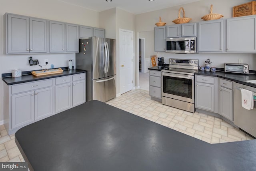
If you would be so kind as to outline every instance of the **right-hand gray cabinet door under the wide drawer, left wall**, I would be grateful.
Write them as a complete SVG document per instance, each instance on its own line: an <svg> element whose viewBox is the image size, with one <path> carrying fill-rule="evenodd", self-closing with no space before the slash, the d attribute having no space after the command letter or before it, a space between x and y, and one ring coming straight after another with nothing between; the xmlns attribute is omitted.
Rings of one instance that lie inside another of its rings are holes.
<svg viewBox="0 0 256 171"><path fill-rule="evenodd" d="M35 120L53 114L53 87L35 91Z"/></svg>

